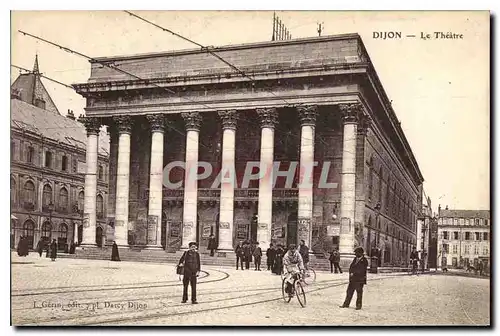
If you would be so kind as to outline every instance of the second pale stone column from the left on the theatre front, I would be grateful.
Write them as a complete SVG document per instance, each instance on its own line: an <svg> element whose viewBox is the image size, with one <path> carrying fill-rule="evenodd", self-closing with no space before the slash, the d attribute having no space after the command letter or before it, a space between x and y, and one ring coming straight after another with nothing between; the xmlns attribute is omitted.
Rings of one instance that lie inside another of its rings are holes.
<svg viewBox="0 0 500 336"><path fill-rule="evenodd" d="M128 246L128 201L130 183L130 136L132 121L128 116L115 117L118 127L118 167L116 169L115 242Z"/></svg>

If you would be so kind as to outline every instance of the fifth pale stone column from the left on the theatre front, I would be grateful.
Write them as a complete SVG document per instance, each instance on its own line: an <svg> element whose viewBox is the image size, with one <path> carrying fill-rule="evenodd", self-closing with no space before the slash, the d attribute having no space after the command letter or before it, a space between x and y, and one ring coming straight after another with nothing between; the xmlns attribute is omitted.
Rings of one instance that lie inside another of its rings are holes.
<svg viewBox="0 0 500 336"><path fill-rule="evenodd" d="M233 251L236 111L219 111L222 119L222 170L219 212L219 250Z"/></svg>

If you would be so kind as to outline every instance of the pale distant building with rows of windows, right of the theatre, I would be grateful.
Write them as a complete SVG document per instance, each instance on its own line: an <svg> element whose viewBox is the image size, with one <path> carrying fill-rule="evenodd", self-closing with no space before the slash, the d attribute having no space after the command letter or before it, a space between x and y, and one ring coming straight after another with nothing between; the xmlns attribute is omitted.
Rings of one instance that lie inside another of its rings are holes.
<svg viewBox="0 0 500 336"><path fill-rule="evenodd" d="M490 211L439 209L438 264L466 268L490 260Z"/></svg>

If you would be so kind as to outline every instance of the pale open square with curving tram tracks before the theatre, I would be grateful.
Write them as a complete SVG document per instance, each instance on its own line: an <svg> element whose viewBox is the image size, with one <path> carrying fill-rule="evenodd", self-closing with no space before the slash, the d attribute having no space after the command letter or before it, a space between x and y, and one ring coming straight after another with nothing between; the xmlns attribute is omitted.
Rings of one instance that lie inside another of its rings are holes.
<svg viewBox="0 0 500 336"><path fill-rule="evenodd" d="M268 271L202 266L199 304L181 303L173 264L11 259L11 321L35 325L433 326L490 324L489 279L369 274L363 309L341 309L348 275L317 272L307 304L285 303Z"/></svg>

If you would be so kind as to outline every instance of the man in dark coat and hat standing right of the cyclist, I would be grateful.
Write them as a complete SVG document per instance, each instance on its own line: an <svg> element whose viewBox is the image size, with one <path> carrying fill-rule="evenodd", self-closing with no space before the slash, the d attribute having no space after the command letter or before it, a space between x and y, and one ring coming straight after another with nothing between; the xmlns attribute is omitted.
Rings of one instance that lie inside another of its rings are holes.
<svg viewBox="0 0 500 336"><path fill-rule="evenodd" d="M366 285L366 268L368 267L364 252L362 247L354 250L356 257L349 267L349 286L347 286L344 304L340 308L349 308L354 291L356 291L356 310L360 310L363 306L363 286Z"/></svg>

